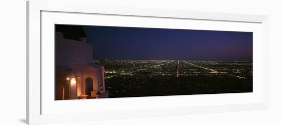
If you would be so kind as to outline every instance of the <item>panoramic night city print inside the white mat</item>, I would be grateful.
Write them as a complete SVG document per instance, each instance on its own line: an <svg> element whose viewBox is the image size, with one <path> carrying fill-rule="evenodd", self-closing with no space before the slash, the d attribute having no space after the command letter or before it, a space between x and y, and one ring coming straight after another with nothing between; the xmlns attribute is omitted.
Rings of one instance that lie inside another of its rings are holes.
<svg viewBox="0 0 281 125"><path fill-rule="evenodd" d="M253 91L253 33L55 24L55 99Z"/></svg>

